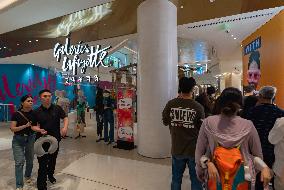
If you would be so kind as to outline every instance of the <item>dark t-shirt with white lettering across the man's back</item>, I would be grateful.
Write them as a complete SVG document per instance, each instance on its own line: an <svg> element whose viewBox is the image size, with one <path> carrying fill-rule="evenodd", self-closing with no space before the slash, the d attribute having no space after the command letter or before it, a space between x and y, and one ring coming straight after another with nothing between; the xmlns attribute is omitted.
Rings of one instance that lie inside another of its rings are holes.
<svg viewBox="0 0 284 190"><path fill-rule="evenodd" d="M170 126L172 155L194 157L196 141L205 113L192 99L170 100L163 111L163 123Z"/></svg>

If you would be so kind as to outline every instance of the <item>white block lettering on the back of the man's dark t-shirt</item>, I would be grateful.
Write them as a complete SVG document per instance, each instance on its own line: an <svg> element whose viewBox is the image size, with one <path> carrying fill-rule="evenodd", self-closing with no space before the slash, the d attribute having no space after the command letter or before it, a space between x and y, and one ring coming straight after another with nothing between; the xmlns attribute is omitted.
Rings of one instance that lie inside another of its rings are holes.
<svg viewBox="0 0 284 190"><path fill-rule="evenodd" d="M190 108L171 108L170 117L172 127L192 129L194 128L196 111Z"/></svg>

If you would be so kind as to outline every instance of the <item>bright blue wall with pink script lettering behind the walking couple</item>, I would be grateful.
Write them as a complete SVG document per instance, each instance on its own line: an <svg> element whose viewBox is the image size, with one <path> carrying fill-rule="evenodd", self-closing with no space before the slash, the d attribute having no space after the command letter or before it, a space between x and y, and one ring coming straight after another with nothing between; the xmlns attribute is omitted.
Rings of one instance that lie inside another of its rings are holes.
<svg viewBox="0 0 284 190"><path fill-rule="evenodd" d="M34 107L40 105L38 92L48 88L52 93L55 90L64 90L69 100L74 99L73 86L65 86L64 78L60 74L50 72L48 69L29 64L1 64L0 65L0 103L12 104L9 106L9 118L15 111L15 106L20 105L20 98L25 94L31 94L34 99ZM104 84L104 81L101 81ZM82 83L81 90L86 95L88 105L95 105L96 86ZM55 98L55 96L53 97ZM2 118L0 110L0 120Z"/></svg>

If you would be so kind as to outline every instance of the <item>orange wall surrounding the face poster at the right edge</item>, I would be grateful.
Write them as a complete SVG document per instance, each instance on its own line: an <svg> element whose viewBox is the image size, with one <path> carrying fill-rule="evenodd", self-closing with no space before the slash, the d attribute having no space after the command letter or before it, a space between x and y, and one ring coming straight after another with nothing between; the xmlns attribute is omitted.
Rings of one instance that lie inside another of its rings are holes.
<svg viewBox="0 0 284 190"><path fill-rule="evenodd" d="M267 23L258 28L254 33L249 35L242 42L243 47L246 47L251 42L261 37L261 47L254 50L258 51L260 64L254 64L255 72L259 80L256 90L262 86L275 86L277 88L275 104L280 108L284 108L284 11L280 11L277 15L271 18ZM248 71L250 56L243 53L243 85L249 85ZM252 70L252 66L250 66ZM258 72L259 71L259 72Z"/></svg>

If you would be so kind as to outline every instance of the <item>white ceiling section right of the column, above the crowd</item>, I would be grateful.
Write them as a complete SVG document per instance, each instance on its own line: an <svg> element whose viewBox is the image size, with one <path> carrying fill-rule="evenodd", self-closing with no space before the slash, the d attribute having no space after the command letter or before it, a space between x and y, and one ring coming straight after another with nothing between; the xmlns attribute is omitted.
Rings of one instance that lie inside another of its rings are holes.
<svg viewBox="0 0 284 190"><path fill-rule="evenodd" d="M178 26L178 36L200 40L201 44L206 42L213 45L217 51L221 72L232 72L234 67L241 69L242 47L240 45L242 41L273 18L280 10L283 10L283 7L181 25ZM224 23L219 23L222 21L228 21L224 22L226 26ZM202 49L202 47L206 48L206 46L200 45L198 47L200 53L208 54L208 49Z"/></svg>

